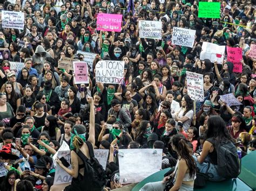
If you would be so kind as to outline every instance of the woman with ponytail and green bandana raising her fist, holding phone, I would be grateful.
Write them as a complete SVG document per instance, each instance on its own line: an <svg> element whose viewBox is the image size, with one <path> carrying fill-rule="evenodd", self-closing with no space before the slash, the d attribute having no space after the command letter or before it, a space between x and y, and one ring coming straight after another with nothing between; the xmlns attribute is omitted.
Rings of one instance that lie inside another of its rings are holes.
<svg viewBox="0 0 256 191"><path fill-rule="evenodd" d="M71 166L69 169L65 167L59 159L57 159L57 163L60 167L62 167L69 175L72 176L71 185L66 187L64 190L80 190L84 186L90 185L91 178L88 177L85 173L84 160L79 155L84 155L85 158L90 159L89 151L95 146L95 111L93 106L93 99L91 97L87 97L87 102L90 104L90 129L89 129L89 138L87 142L85 140L86 128L84 125L75 125L71 129ZM92 151L93 152L93 151ZM85 176L85 178L84 178ZM67 186L67 185L63 185ZM56 186L54 190L63 190Z"/></svg>

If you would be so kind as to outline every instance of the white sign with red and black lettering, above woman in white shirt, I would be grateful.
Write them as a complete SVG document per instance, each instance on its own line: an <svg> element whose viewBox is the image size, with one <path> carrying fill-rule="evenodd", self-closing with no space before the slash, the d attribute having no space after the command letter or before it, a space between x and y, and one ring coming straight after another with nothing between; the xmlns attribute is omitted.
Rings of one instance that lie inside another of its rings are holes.
<svg viewBox="0 0 256 191"><path fill-rule="evenodd" d="M186 71L187 94L193 100L204 101L203 74Z"/></svg>

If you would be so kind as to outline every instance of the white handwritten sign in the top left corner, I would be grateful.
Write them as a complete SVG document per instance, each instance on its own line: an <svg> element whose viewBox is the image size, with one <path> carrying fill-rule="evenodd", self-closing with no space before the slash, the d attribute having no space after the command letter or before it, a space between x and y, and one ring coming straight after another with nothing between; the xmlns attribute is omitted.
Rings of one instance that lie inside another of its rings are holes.
<svg viewBox="0 0 256 191"><path fill-rule="evenodd" d="M24 12L2 11L2 28L24 29Z"/></svg>

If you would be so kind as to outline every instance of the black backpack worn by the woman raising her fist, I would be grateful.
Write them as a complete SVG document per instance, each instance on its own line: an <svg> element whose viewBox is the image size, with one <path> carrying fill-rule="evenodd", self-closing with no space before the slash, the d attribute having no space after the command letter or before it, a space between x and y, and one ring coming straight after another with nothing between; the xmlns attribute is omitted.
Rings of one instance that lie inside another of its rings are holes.
<svg viewBox="0 0 256 191"><path fill-rule="evenodd" d="M88 159L82 151L78 151L78 156L84 162L84 185L86 188L81 188L87 191L101 191L106 183L106 171L100 165L99 161L95 158L91 142L85 142L90 153L90 159ZM78 190L76 190L78 191Z"/></svg>

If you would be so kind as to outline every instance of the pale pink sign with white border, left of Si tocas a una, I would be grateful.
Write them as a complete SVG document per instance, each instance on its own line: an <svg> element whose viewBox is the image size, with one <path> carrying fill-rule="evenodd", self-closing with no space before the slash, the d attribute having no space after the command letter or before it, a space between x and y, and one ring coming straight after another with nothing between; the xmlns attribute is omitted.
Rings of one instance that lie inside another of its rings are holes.
<svg viewBox="0 0 256 191"><path fill-rule="evenodd" d="M89 84L88 66L86 62L73 62L75 84Z"/></svg>

